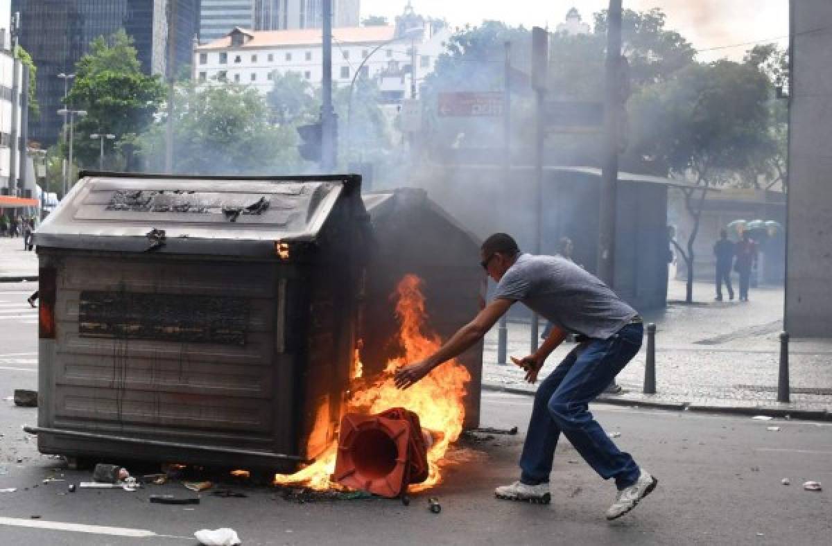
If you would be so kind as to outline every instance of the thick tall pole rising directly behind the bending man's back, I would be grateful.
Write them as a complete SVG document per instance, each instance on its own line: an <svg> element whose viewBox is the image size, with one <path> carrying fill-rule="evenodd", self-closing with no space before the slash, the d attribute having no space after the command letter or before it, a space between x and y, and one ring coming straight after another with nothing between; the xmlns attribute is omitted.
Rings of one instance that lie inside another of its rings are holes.
<svg viewBox="0 0 832 546"><path fill-rule="evenodd" d="M622 51L622 0L610 0L607 12L607 78L604 97L604 158L598 222L598 278L610 288L615 282L616 190L618 180L618 76Z"/></svg>

